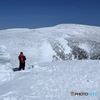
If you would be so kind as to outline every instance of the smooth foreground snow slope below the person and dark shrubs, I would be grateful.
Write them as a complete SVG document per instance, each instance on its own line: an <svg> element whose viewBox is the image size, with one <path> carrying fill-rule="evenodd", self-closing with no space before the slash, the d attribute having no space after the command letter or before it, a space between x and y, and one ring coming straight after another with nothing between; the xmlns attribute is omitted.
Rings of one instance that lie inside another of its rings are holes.
<svg viewBox="0 0 100 100"><path fill-rule="evenodd" d="M39 63L0 84L0 100L100 100L99 66L92 60ZM92 95L71 96L72 91Z"/></svg>

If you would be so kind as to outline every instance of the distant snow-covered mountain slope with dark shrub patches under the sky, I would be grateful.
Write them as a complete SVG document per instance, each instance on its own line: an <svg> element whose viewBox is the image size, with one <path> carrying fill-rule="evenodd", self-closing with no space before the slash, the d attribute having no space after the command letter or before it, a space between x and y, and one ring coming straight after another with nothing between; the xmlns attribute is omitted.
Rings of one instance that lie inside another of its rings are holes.
<svg viewBox="0 0 100 100"><path fill-rule="evenodd" d="M1 30L0 45L7 48L13 66L18 66L21 51L27 57L27 64L52 61L54 56L65 60L66 54L72 53L75 48L79 50L74 52L76 58L83 50L87 58L99 59L100 27L61 24L39 29Z"/></svg>

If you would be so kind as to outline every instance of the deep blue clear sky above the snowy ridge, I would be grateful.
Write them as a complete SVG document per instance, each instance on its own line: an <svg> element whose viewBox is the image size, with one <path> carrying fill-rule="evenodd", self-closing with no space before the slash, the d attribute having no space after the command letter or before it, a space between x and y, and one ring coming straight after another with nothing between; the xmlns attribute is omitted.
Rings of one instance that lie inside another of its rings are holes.
<svg viewBox="0 0 100 100"><path fill-rule="evenodd" d="M69 23L100 26L100 0L0 0L0 30Z"/></svg>

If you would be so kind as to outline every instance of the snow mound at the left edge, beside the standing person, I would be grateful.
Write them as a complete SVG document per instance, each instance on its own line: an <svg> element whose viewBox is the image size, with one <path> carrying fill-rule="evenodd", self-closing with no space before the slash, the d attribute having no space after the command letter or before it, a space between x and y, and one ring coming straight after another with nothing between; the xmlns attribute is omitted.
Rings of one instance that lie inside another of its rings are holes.
<svg viewBox="0 0 100 100"><path fill-rule="evenodd" d="M6 47L0 45L0 83L11 78L10 72L12 72L10 55L6 52Z"/></svg>

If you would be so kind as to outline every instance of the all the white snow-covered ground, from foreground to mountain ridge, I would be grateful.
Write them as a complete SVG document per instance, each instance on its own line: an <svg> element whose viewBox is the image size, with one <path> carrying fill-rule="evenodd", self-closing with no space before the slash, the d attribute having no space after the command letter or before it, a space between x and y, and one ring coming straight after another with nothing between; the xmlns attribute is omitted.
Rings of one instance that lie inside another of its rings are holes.
<svg viewBox="0 0 100 100"><path fill-rule="evenodd" d="M63 61L74 46L99 54L100 27L62 24L40 29L0 31L0 100L100 100L99 61ZM18 55L26 56L26 70L13 73ZM59 62L52 62L53 56ZM34 65L34 69L28 69ZM70 92L97 92L75 96Z"/></svg>

